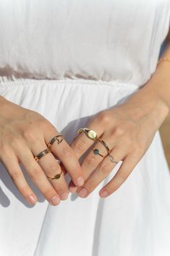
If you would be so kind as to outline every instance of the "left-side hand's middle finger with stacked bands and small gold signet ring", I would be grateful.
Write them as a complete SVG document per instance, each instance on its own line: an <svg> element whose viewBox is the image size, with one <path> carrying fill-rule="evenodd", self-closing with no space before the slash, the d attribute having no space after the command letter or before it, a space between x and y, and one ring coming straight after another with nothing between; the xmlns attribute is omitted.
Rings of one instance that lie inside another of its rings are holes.
<svg viewBox="0 0 170 256"><path fill-rule="evenodd" d="M47 148L45 142L35 142L34 147L31 147L33 155L37 155ZM66 200L68 197L68 186L64 179L63 173L61 173L61 167L55 160L52 153L48 153L39 159L37 162L45 172L46 176L53 178L56 174L61 174L59 179L49 179L58 195L62 200Z"/></svg>

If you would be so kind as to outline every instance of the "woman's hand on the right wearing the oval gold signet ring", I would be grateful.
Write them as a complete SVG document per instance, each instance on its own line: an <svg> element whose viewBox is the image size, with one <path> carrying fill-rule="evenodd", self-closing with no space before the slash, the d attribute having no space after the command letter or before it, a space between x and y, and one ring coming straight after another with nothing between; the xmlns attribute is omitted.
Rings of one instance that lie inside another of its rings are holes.
<svg viewBox="0 0 170 256"><path fill-rule="evenodd" d="M100 112L87 125L108 145L114 160L122 161L112 180L100 190L101 197L111 195L125 182L146 153L156 130L168 114L166 104L156 97L148 101L147 97L147 95L146 99L141 97L138 92L126 103ZM97 142L96 145L93 143L93 140L81 132L71 143L71 148L77 158L80 158L91 145L99 150L100 154L107 155L107 150L101 142ZM109 156L102 158L101 155L95 155L93 150L89 151L81 163L85 183L77 190L80 197L87 197L109 175L116 166L111 160ZM72 182L69 184L69 189L71 192L76 192Z"/></svg>

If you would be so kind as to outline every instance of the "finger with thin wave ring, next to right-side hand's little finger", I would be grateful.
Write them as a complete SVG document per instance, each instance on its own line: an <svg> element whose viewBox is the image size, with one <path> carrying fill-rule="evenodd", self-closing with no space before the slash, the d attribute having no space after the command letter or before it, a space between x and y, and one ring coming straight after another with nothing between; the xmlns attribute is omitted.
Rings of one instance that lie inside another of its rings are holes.
<svg viewBox="0 0 170 256"><path fill-rule="evenodd" d="M125 157L121 150L116 148L111 151L110 155L113 156L114 161L117 163ZM86 180L84 186L77 190L79 196L87 197L115 168L117 165L115 162L107 155L97 166L97 169L89 176L89 179Z"/></svg>

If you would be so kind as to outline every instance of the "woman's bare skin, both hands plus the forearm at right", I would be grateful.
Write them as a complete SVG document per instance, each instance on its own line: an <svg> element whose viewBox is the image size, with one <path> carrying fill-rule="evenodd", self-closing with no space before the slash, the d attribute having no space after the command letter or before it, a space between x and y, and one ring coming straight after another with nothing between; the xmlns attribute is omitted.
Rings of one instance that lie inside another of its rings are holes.
<svg viewBox="0 0 170 256"><path fill-rule="evenodd" d="M163 57L170 59L170 46ZM115 161L122 161L117 174L99 191L99 196L111 195L128 179L169 114L169 69L170 62L162 61L151 80L128 98L128 101L99 112L87 124L107 143ZM53 153L48 153L37 163L34 155L47 148L48 141L58 135L57 129L37 112L22 108L1 96L0 106L0 161L21 195L30 204L35 205L37 197L24 179L20 163L51 205L58 205L68 197L68 186L64 179L67 172L71 176L69 190L77 191L80 197L87 197L115 167L116 163L109 161L108 156L103 159L94 155L92 150L80 166L79 158L93 144L84 133L76 137L71 145L63 140L58 147L57 142L54 142ZM100 142L97 142L95 148L106 155ZM55 161L55 156L61 159L61 165ZM61 168L63 174L60 179L47 179L46 175L61 173Z"/></svg>

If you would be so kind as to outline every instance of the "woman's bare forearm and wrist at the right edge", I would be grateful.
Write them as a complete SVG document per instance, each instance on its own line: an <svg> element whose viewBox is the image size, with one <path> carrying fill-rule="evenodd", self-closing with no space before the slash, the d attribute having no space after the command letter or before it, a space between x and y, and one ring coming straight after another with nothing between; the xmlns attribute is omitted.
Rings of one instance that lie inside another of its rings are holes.
<svg viewBox="0 0 170 256"><path fill-rule="evenodd" d="M162 57L170 59L170 46ZM170 110L170 62L161 61L151 79L128 99L127 105L134 119L151 114L153 125L158 129Z"/></svg>

